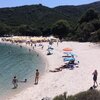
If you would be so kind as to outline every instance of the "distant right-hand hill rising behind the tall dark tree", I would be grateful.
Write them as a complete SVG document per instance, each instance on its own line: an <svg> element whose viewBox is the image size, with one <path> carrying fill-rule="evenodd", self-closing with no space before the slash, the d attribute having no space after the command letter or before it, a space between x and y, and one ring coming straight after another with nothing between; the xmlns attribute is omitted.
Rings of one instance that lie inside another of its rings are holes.
<svg viewBox="0 0 100 100"><path fill-rule="evenodd" d="M100 14L100 1L79 6L58 6L54 10L69 18L70 21L77 23L80 17L90 8L93 8Z"/></svg>

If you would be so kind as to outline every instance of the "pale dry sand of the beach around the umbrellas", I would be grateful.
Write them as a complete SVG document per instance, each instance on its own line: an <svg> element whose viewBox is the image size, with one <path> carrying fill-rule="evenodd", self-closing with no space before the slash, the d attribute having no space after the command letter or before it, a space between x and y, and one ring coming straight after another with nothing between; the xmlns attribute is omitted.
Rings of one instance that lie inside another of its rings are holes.
<svg viewBox="0 0 100 100"><path fill-rule="evenodd" d="M43 97L53 98L56 95L67 92L73 95L81 91L88 90L93 85L93 71L98 71L98 83L100 82L100 44L62 42L53 44L53 54L47 55L48 43L43 43L43 50L36 47L47 62L47 68L43 76L40 76L39 84L23 90L19 94L7 98L7 100L41 100ZM49 72L64 65L63 48L69 47L77 55L79 67L73 70L63 69L60 72ZM100 86L99 86L100 87ZM99 89L98 87L98 89Z"/></svg>

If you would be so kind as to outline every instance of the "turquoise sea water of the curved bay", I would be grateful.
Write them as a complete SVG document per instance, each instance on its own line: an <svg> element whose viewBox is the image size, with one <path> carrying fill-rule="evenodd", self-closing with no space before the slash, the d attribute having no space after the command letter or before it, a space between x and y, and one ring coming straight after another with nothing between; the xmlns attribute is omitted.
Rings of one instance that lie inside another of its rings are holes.
<svg viewBox="0 0 100 100"><path fill-rule="evenodd" d="M0 98L18 93L34 84L35 70L42 73L45 62L35 51L19 46L0 44ZM19 83L18 89L12 89L13 76L18 80L27 79L26 83Z"/></svg>

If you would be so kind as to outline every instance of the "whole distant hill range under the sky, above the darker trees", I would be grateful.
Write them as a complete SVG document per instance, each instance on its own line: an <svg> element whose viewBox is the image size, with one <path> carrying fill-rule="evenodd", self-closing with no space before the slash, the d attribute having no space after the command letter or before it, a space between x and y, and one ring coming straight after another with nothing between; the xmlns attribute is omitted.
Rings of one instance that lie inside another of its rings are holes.
<svg viewBox="0 0 100 100"><path fill-rule="evenodd" d="M47 26L60 19L66 19L71 23L77 22L80 16L94 8L100 13L100 2L94 2L80 6L45 7L41 4L0 9L0 22L11 26L21 24L33 24L34 26Z"/></svg>

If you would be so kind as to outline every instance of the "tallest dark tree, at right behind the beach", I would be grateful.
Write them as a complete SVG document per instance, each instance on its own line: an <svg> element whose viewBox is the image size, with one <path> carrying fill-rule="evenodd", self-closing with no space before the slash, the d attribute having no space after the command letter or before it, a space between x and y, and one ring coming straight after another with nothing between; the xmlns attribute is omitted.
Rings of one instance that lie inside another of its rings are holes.
<svg viewBox="0 0 100 100"><path fill-rule="evenodd" d="M91 33L97 31L99 28L100 28L100 21L98 13L93 9L89 9L82 16L77 25L76 28L77 40L86 42L93 39L93 37L91 38Z"/></svg>

